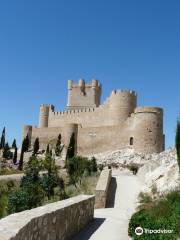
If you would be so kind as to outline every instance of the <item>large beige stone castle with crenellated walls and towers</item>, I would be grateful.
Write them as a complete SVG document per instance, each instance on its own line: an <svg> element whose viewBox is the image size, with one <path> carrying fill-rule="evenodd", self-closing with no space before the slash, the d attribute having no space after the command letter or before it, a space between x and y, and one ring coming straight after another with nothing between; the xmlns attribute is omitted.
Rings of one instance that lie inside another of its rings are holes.
<svg viewBox="0 0 180 240"><path fill-rule="evenodd" d="M28 135L32 145L38 137L46 149L61 134L67 149L74 133L78 155L126 147L143 153L164 150L163 109L137 107L137 94L125 90L112 91L101 105L101 93L97 80L90 84L69 80L67 109L56 112L53 105L41 105L39 126L25 125L23 138Z"/></svg>

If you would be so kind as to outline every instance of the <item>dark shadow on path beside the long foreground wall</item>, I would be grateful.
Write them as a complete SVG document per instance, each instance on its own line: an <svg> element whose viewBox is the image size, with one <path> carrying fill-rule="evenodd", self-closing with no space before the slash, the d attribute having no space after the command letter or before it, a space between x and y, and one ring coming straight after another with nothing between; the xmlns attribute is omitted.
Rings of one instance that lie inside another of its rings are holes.
<svg viewBox="0 0 180 240"><path fill-rule="evenodd" d="M105 218L94 218L92 222L88 224L87 227L82 229L74 238L73 240L87 240L90 239L90 237L93 235L94 232L103 224L105 221Z"/></svg>

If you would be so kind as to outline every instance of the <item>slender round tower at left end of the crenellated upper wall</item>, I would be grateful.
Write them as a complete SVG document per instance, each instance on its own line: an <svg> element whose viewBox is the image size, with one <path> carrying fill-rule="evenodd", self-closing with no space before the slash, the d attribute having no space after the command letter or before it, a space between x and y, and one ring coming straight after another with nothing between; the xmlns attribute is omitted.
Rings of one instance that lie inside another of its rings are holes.
<svg viewBox="0 0 180 240"><path fill-rule="evenodd" d="M48 127L49 112L54 110L53 105L42 104L39 114L39 128Z"/></svg>

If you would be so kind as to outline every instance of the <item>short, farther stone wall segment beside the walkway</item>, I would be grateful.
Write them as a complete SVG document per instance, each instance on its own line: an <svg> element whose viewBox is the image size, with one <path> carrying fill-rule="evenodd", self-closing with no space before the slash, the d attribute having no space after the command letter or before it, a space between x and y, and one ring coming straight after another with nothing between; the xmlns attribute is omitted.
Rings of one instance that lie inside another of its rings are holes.
<svg viewBox="0 0 180 240"><path fill-rule="evenodd" d="M96 190L95 190L95 208L105 208L109 184L111 181L111 169L105 169L101 172Z"/></svg>

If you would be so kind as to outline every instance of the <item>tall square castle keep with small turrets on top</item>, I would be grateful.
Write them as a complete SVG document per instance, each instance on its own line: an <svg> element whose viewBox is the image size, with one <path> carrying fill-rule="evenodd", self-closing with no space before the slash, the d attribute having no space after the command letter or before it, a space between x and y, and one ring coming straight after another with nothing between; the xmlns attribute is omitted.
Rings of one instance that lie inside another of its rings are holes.
<svg viewBox="0 0 180 240"><path fill-rule="evenodd" d="M90 84L86 84L83 79L80 79L78 84L68 81L67 109L99 107L100 100L101 84L97 80L92 80Z"/></svg>

